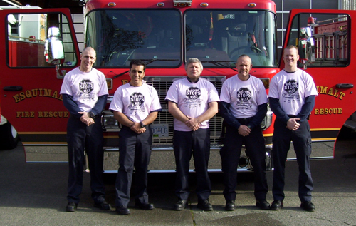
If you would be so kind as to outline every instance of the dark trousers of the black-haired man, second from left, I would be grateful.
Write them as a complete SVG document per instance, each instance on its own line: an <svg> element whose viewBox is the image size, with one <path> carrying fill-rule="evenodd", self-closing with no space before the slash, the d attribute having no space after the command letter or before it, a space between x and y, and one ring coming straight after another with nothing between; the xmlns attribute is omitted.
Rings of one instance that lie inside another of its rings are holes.
<svg viewBox="0 0 356 226"><path fill-rule="evenodd" d="M137 134L123 126L119 132L119 170L116 177L116 207L127 207L130 202L132 173L135 167L135 201L148 203L147 170L152 148L152 130L148 125L146 132Z"/></svg>

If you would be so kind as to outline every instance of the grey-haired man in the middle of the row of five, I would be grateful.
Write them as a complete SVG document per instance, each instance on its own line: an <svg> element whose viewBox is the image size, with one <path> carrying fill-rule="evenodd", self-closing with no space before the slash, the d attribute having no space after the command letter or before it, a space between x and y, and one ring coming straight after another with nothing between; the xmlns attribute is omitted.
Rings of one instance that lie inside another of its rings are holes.
<svg viewBox="0 0 356 226"><path fill-rule="evenodd" d="M189 161L194 157L197 173L197 207L213 210L209 202L211 184L208 175L210 155L209 119L218 112L219 94L214 85L200 78L203 65L197 58L189 58L187 77L172 83L166 96L168 111L174 117L173 148L176 160L176 196L174 210L184 210L189 197Z"/></svg>

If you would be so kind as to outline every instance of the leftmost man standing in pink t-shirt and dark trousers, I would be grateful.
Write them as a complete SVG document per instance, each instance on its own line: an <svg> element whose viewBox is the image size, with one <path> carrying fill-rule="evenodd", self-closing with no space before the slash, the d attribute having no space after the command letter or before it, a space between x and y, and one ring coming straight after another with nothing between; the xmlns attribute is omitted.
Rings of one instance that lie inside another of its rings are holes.
<svg viewBox="0 0 356 226"><path fill-rule="evenodd" d="M66 74L61 88L64 106L70 112L67 124L69 175L66 210L77 210L83 188L84 148L88 156L94 206L110 210L110 205L105 201L103 130L100 120L108 97L108 86L104 74L93 68L96 60L93 48L84 48L80 60L80 67Z"/></svg>

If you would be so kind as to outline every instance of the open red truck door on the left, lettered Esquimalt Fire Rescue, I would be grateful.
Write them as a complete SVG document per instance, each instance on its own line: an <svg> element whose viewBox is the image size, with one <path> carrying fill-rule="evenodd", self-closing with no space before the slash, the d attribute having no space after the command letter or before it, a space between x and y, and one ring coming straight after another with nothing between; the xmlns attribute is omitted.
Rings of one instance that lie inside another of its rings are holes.
<svg viewBox="0 0 356 226"><path fill-rule="evenodd" d="M0 18L4 21L0 24L1 115L18 131L27 162L67 161L69 113L63 106L60 90L63 75L79 63L70 11L1 10ZM48 58L46 61L45 55L48 31L52 28L58 29L58 39L63 42L64 59L58 60L57 66ZM58 76L56 67L61 67L62 76ZM53 146L63 150L48 155ZM46 157L40 157L41 153Z"/></svg>

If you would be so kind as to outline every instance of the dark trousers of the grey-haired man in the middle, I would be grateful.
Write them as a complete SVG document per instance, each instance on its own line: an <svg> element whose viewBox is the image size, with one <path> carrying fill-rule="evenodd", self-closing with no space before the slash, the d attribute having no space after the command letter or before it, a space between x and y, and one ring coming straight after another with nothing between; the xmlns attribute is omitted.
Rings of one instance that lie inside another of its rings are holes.
<svg viewBox="0 0 356 226"><path fill-rule="evenodd" d="M208 175L210 130L198 129L188 132L174 130L173 146L177 171L175 194L181 200L187 200L189 197L189 162L193 155L198 200L208 199L211 193Z"/></svg>

